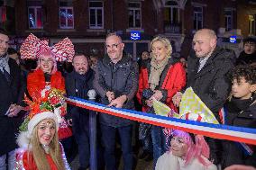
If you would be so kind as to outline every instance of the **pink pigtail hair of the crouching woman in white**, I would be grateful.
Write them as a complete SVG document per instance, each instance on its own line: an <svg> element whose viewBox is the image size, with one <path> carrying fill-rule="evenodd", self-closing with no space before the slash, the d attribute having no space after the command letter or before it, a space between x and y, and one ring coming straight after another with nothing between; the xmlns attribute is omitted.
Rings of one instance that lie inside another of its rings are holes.
<svg viewBox="0 0 256 170"><path fill-rule="evenodd" d="M182 130L173 130L173 137L180 137L184 139L185 143L188 146L187 153L185 156L185 165L187 166L190 161L194 158L197 158L198 161L204 166L210 166L211 162L206 162L203 157L209 158L210 149L202 135L195 136L195 142L189 133Z"/></svg>

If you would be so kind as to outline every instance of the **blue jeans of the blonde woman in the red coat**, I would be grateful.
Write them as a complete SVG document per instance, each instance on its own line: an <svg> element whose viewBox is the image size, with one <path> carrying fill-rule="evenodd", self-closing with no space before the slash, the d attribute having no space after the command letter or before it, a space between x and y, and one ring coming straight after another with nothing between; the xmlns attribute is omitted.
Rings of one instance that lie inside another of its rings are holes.
<svg viewBox="0 0 256 170"><path fill-rule="evenodd" d="M153 143L153 167L155 168L158 158L168 150L168 146L162 128L159 126L152 126L151 138Z"/></svg>

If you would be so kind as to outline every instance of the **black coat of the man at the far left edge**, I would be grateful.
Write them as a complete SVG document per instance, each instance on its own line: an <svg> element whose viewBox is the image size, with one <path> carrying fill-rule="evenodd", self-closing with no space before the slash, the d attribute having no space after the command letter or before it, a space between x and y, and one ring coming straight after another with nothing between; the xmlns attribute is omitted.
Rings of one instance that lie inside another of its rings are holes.
<svg viewBox="0 0 256 170"><path fill-rule="evenodd" d="M5 116L12 103L23 105L25 84L20 67L15 60L9 58L11 83L6 82L5 76L0 72L0 157L17 148L16 134L18 133L18 119Z"/></svg>

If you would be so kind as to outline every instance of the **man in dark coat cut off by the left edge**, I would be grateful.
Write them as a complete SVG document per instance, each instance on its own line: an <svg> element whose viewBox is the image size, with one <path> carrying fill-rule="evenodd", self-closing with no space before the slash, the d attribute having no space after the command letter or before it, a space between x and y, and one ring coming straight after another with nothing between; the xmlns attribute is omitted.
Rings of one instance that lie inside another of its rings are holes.
<svg viewBox="0 0 256 170"><path fill-rule="evenodd" d="M13 58L9 58L9 37L6 31L0 30L0 169L14 169L17 128L21 122L17 117L23 110L23 76L21 69Z"/></svg>

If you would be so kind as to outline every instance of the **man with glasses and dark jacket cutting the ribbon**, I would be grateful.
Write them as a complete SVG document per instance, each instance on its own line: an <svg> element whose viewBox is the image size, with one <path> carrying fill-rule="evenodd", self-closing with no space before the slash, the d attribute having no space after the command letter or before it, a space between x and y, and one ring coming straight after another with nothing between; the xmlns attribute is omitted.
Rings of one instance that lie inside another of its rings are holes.
<svg viewBox="0 0 256 170"><path fill-rule="evenodd" d="M134 109L133 97L138 88L138 65L123 53L122 39L111 33L106 37L107 55L98 60L94 86L101 103L116 108ZM133 167L132 121L105 113L99 115L105 147L106 170L115 170L115 133L118 131L123 151L123 169Z"/></svg>

